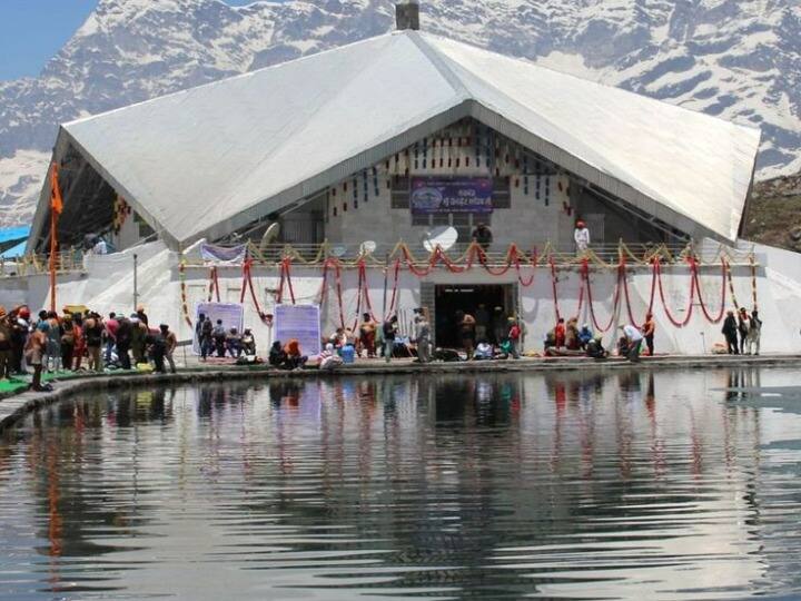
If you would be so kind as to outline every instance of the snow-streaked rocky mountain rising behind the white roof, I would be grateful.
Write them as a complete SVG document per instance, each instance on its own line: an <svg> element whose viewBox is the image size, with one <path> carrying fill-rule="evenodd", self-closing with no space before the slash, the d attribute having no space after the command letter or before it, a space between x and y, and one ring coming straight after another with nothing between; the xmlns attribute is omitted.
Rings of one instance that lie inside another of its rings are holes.
<svg viewBox="0 0 801 601"><path fill-rule="evenodd" d="M30 218L57 124L393 27L390 0L100 0L40 77L0 82L0 225ZM422 0L422 27L759 125L760 175L801 168L799 0Z"/></svg>

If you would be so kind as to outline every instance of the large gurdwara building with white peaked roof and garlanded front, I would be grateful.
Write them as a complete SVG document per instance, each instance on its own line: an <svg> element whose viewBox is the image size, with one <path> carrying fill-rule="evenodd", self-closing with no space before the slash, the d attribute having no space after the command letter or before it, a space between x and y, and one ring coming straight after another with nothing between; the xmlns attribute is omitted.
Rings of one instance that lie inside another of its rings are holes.
<svg viewBox="0 0 801 601"><path fill-rule="evenodd" d="M801 274L738 239L759 129L421 32L415 3L397 14L387 35L65 124L59 248L102 235L117 252L65 269L59 304L127 309L137 255L157 319L189 337L198 303L241 303L260 349L286 303L318 305L323 332L364 312L408 327L425 306L442 345L456 311L501 307L526 349L558 317L613 336L652 311L679 353L759 304L765 351L795 346L771 332L798 332ZM31 255L50 206L46 185ZM6 302L46 304L34 279Z"/></svg>

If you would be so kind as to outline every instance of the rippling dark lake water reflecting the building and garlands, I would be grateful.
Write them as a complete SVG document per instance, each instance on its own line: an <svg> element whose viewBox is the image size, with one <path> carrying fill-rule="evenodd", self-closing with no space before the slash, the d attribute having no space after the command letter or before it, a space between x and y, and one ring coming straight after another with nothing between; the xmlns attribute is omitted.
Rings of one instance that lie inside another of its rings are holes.
<svg viewBox="0 0 801 601"><path fill-rule="evenodd" d="M793 377L284 378L61 403L0 443L0 597L790 593L801 417L750 400Z"/></svg>

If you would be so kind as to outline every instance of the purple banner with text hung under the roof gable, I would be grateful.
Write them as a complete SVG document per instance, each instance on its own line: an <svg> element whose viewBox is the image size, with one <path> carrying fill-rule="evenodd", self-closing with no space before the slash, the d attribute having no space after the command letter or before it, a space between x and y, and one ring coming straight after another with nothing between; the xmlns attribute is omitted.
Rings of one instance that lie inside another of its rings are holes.
<svg viewBox="0 0 801 601"><path fill-rule="evenodd" d="M412 213L492 213L492 184L490 177L414 177Z"/></svg>

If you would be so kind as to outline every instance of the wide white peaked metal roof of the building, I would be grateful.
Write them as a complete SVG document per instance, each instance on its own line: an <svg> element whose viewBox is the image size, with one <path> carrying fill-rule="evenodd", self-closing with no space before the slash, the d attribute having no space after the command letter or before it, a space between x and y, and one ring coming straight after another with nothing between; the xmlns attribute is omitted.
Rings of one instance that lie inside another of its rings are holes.
<svg viewBox="0 0 801 601"><path fill-rule="evenodd" d="M177 246L467 116L690 235L736 238L758 129L411 30L67 124L56 154L76 147Z"/></svg>

